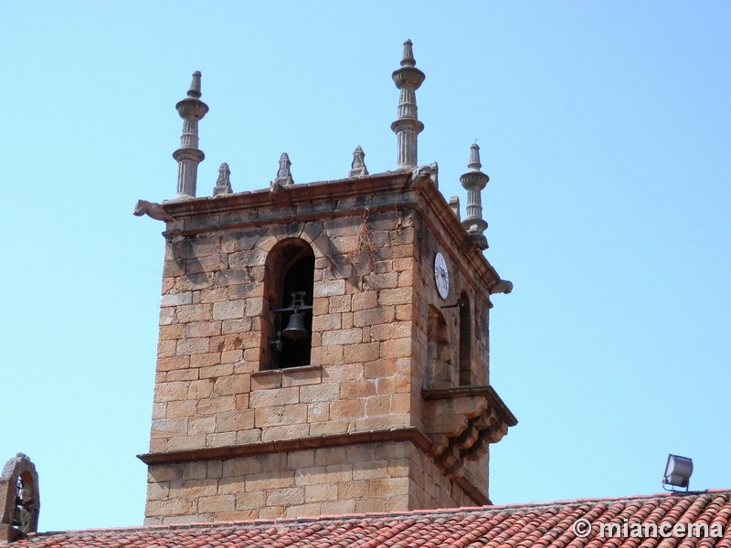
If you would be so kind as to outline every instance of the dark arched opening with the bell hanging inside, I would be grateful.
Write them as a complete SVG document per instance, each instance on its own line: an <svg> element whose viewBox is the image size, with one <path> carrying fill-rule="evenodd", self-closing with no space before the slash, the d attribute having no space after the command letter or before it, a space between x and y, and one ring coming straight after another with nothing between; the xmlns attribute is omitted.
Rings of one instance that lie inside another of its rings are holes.
<svg viewBox="0 0 731 548"><path fill-rule="evenodd" d="M267 257L265 297L269 322L261 369L310 364L313 346L314 253L300 238L287 238ZM266 320L266 319L265 319Z"/></svg>

